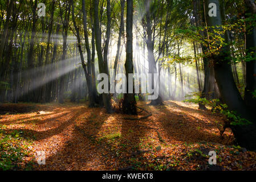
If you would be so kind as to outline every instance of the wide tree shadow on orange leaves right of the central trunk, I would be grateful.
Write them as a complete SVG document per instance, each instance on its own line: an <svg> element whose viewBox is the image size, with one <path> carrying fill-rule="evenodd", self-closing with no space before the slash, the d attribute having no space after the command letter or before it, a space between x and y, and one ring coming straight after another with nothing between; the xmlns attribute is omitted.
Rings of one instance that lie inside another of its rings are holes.
<svg viewBox="0 0 256 182"><path fill-rule="evenodd" d="M180 111L170 111L166 106L161 107L161 112L157 117L161 123L161 128L168 135L170 140L181 142L213 142L227 144L229 137L221 139L218 123L222 121L220 115L213 115L209 110L197 110L177 105L174 102L170 106L175 106ZM196 115L196 116L195 116ZM171 116L171 117L170 117ZM230 142L232 142L230 140Z"/></svg>

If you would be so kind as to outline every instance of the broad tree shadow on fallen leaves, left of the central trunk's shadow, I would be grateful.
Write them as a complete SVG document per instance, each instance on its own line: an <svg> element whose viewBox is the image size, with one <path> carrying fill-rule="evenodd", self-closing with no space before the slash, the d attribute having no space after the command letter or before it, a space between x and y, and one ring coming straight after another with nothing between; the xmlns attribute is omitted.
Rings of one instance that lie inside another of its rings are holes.
<svg viewBox="0 0 256 182"><path fill-rule="evenodd" d="M62 149L46 159L54 165L46 164L39 166L38 169L88 170L88 166L104 166L101 156L104 155L103 151L106 146L99 142L99 132L109 114L105 114L104 111L95 113L94 110L94 108L88 108L76 117L82 122L74 122L71 137L64 142ZM87 113L91 114L88 116ZM60 162L63 165L59 165Z"/></svg>

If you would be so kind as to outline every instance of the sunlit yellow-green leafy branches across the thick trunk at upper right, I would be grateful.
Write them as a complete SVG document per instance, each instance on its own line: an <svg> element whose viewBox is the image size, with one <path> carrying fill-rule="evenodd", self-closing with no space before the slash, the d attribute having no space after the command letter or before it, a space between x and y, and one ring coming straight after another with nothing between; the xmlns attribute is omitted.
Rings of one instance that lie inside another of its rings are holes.
<svg viewBox="0 0 256 182"><path fill-rule="evenodd" d="M249 16L249 18L230 18L221 26L196 27L188 25L186 28L177 28L175 33L179 36L184 36L190 42L197 42L208 48L206 52L199 53L197 55L198 57L203 58L219 55L221 52L225 52L225 49L222 48L228 46L233 55L225 57L225 61L229 61L229 63L254 61L256 49L250 49L250 51L247 51L246 55L244 55L241 49L243 49L245 42L237 38L241 36L246 29L256 26L256 15L247 14L247 16ZM230 32L232 37L229 42L226 42L224 39L224 35L227 31ZM201 32L207 32L208 36L202 36Z"/></svg>

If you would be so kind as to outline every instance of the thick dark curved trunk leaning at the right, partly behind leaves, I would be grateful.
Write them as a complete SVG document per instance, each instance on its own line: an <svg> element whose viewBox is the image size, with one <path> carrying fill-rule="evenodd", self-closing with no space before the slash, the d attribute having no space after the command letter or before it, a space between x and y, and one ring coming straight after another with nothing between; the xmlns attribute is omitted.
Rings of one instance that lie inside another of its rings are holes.
<svg viewBox="0 0 256 182"><path fill-rule="evenodd" d="M215 3L217 5L217 16L208 16L209 3ZM209 31L212 29L210 27L221 26L221 17L223 16L221 16L220 2L218 0L208 0L206 1L205 7L206 21L209 26ZM227 34L225 34L225 36L222 38L224 38L226 42L228 41ZM231 66L226 60L226 57L229 57L229 52L229 47L224 46L220 50L220 54L213 54L216 81L218 88L220 89L222 100L225 104L227 104L227 106L229 106L229 110L237 111L237 113L240 114L242 118L249 119L251 122L253 122L253 124L245 126L231 125L231 129L235 135L235 138L237 139L238 144L242 147L248 148L249 150L256 150L255 118L247 109L240 93L238 92L237 86L235 85Z"/></svg>

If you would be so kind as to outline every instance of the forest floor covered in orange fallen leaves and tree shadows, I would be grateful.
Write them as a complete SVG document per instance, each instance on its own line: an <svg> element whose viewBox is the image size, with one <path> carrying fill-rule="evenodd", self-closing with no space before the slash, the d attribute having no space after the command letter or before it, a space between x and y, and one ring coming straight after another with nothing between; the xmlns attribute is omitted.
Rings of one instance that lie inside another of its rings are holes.
<svg viewBox="0 0 256 182"><path fill-rule="evenodd" d="M164 104L138 102L152 116L137 121L85 104L0 105L0 147L6 150L0 167L8 169L6 162L33 170L256 169L256 152L234 146L230 129L220 137L221 115L184 102ZM22 156L18 165L7 159L10 151ZM45 152L45 165L36 162L36 151ZM209 151L217 152L217 165L208 163Z"/></svg>

